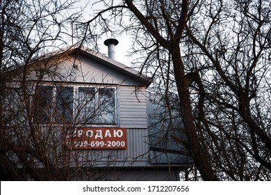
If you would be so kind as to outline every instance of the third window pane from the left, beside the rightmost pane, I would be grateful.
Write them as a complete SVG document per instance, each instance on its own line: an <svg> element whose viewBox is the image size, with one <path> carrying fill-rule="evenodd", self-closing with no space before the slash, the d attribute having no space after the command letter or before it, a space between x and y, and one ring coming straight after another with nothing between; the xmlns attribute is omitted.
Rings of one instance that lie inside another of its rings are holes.
<svg viewBox="0 0 271 195"><path fill-rule="evenodd" d="M80 123L95 121L95 88L79 87L77 111Z"/></svg>

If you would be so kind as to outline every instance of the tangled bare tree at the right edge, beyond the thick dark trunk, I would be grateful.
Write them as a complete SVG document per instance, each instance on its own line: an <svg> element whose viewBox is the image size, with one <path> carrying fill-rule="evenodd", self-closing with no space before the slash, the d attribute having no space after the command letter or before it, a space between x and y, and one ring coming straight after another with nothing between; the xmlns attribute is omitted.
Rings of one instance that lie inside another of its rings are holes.
<svg viewBox="0 0 271 195"><path fill-rule="evenodd" d="M210 1L186 26L196 124L222 179L270 180L269 6Z"/></svg>

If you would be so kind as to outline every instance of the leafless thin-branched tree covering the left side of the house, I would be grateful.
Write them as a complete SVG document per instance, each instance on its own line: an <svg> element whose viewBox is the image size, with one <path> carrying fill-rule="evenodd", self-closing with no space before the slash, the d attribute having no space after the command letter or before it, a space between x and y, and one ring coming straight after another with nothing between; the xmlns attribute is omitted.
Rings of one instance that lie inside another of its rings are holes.
<svg viewBox="0 0 271 195"><path fill-rule="evenodd" d="M72 110L79 108L71 103L72 88L48 84L69 79L59 71L69 56L55 51L69 45L67 26L78 18L69 14L72 6L70 1L0 1L1 180L79 180L75 174L101 158L79 164L82 153L67 148L65 137L80 124ZM85 174L92 177L90 170Z"/></svg>

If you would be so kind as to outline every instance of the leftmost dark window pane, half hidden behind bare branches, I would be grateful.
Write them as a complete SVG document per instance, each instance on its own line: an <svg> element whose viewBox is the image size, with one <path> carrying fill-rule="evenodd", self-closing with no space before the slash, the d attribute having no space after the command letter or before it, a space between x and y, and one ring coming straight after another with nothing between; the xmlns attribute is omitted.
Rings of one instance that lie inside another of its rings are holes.
<svg viewBox="0 0 271 195"><path fill-rule="evenodd" d="M51 118L51 102L53 100L53 87L40 86L34 95L35 110L33 119L38 123L47 123Z"/></svg>

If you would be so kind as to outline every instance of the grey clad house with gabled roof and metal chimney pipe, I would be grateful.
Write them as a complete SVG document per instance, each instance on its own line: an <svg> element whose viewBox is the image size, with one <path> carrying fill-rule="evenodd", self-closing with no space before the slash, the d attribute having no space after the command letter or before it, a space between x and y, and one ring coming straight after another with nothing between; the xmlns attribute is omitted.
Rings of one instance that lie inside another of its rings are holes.
<svg viewBox="0 0 271 195"><path fill-rule="evenodd" d="M188 150L175 139L186 137L181 122L174 120L176 130L159 123L163 100L147 91L151 79L115 61L117 40L105 44L109 58L72 47L13 74L13 88L21 90L19 83L27 80L32 103L24 110L31 117L29 128L43 140L37 143L48 133L48 159L44 163L37 155L37 167L44 169L48 161L59 170L68 167L72 180L178 180L192 165Z"/></svg>

